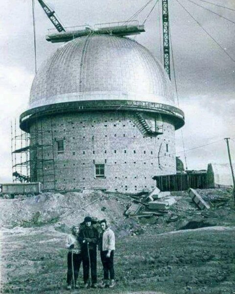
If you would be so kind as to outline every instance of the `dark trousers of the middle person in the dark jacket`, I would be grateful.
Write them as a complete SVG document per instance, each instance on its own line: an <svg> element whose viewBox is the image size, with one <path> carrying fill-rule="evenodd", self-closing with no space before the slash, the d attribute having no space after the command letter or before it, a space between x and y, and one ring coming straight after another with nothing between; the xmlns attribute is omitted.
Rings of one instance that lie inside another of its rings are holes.
<svg viewBox="0 0 235 294"><path fill-rule="evenodd" d="M91 278L92 284L97 283L97 252L95 249L89 249L90 262L91 262ZM83 280L84 283L88 283L89 280L89 271L90 271L90 262L88 250L84 250L82 253L82 262L83 262Z"/></svg>

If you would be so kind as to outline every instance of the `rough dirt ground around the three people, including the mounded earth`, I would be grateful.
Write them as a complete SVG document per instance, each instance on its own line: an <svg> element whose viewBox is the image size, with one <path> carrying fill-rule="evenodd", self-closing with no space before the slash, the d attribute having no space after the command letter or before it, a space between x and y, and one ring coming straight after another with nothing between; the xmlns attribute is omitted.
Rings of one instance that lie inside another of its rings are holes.
<svg viewBox="0 0 235 294"><path fill-rule="evenodd" d="M133 199L119 193L0 199L1 293L68 293L65 238L71 225L86 215L106 218L116 233L117 286L73 293L235 293L232 193L198 192L211 205L207 212L198 210L187 192L175 192L177 202L168 212L148 218L127 218L124 212ZM170 215L178 219L169 222ZM99 258L97 271L101 280ZM82 287L82 270L79 284Z"/></svg>

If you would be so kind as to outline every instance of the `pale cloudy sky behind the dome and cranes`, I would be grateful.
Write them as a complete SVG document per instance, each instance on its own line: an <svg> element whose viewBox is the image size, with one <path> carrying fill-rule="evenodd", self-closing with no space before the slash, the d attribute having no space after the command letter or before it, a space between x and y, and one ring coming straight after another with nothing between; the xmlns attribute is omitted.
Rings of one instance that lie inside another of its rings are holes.
<svg viewBox="0 0 235 294"><path fill-rule="evenodd" d="M169 21L179 107L185 126L176 131L177 156L188 169L208 163L228 163L225 137L230 137L235 161L235 1L169 0ZM147 0L49 0L64 26L118 22L129 19ZM162 1L160 0L160 3ZM204 6L211 11L194 4ZM231 9L212 5L226 6ZM136 18L146 19L155 0ZM159 3L147 18L146 32L135 40L163 60ZM226 18L226 19L225 19ZM195 21L196 20L196 21ZM53 28L35 0L37 66L60 44L45 40ZM209 36L211 35L211 37ZM219 44L219 46L215 43ZM228 56L225 52L230 56ZM172 81L173 66L171 63ZM0 182L11 182L11 121L18 125L27 108L35 74L32 1L2 0L0 10ZM176 105L177 99L176 99ZM186 152L184 153L184 146Z"/></svg>

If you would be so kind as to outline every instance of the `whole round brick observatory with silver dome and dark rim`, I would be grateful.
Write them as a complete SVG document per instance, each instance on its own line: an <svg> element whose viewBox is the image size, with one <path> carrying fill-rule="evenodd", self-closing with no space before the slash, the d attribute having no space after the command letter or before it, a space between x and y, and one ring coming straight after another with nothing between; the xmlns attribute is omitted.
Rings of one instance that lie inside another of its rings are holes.
<svg viewBox="0 0 235 294"><path fill-rule="evenodd" d="M184 113L163 67L136 41L76 38L36 74L28 110L30 177L44 190L153 189L176 172L175 130Z"/></svg>

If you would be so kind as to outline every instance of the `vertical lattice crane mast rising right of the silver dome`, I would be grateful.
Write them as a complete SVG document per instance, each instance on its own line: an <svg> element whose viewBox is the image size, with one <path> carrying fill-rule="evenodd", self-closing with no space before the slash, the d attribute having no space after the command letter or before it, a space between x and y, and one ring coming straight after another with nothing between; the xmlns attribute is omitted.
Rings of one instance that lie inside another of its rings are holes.
<svg viewBox="0 0 235 294"><path fill-rule="evenodd" d="M163 7L163 53L164 69L170 78L170 42L169 42L169 13L168 0L162 0Z"/></svg>

